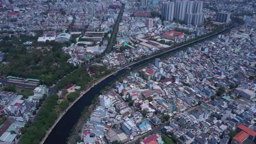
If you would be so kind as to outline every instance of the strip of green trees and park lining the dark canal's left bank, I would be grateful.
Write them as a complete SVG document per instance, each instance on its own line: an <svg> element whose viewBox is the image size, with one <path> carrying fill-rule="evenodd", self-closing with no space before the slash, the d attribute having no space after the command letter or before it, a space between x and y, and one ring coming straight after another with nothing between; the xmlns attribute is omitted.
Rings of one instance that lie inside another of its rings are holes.
<svg viewBox="0 0 256 144"><path fill-rule="evenodd" d="M88 70L95 73L90 72L90 76ZM104 71L104 73L102 73L102 71ZM66 85L72 83L81 86L81 89L86 89L91 85L93 80L97 80L111 72L112 70L101 66L91 66L88 69L86 67L80 67L63 78L63 80L58 83L57 88L61 90L64 89ZM52 95L42 107L42 111L39 112L39 116L36 118L36 121L33 124L28 122L28 124L22 128L21 131L24 136L21 138L21 144L39 143L45 136L46 130L54 124L58 116L57 111L66 110L69 103L72 103L72 101L79 97L80 92L81 90L77 90L73 93L69 93L67 97L60 102L60 104L57 103L59 96L56 94Z"/></svg>

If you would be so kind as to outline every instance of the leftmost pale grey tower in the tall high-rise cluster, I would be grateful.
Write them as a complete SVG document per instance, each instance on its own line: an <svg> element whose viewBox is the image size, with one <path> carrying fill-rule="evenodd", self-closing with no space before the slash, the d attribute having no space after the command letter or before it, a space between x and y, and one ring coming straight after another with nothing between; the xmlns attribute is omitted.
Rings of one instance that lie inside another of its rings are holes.
<svg viewBox="0 0 256 144"><path fill-rule="evenodd" d="M162 4L162 18L166 21L173 21L174 3L167 2Z"/></svg>

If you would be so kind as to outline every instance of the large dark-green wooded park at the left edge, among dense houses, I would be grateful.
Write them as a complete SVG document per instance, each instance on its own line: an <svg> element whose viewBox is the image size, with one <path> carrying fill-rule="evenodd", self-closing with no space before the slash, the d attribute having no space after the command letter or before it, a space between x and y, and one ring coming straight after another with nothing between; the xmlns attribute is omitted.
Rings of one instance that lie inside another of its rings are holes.
<svg viewBox="0 0 256 144"><path fill-rule="evenodd" d="M36 37L21 35L20 38L4 37L0 51L8 53L0 64L0 75L39 79L45 85L52 85L76 67L67 63L69 55L61 51L62 44L55 41L37 43ZM31 46L23 43L33 41ZM31 49L27 49L31 47Z"/></svg>

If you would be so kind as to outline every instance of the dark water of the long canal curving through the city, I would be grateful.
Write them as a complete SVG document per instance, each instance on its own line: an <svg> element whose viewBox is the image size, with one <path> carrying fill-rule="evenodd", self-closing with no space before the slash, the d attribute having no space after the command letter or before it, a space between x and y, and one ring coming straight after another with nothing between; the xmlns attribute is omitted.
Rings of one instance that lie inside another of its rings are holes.
<svg viewBox="0 0 256 144"><path fill-rule="evenodd" d="M231 28L234 28L237 26L239 26L238 23L235 23L235 25L232 26ZM217 34L219 34L219 33L217 33ZM214 34L212 37L209 37L207 39L212 39L213 37L216 37L217 34ZM206 39L203 39L203 40L206 40ZM195 43L200 43L200 41L202 41L202 40L195 41L194 43L191 43L191 45L193 45ZM69 133L71 132L73 126L78 122L78 119L81 116L81 112L84 110L84 107L90 106L91 100L94 99L95 95L101 94L100 93L101 89L103 89L105 86L107 86L109 82L117 80L121 74L124 74L131 70L135 70L138 67L140 67L140 65L148 63L150 61L153 61L154 58L156 58L156 57L162 57L162 56L166 56L166 55L171 56L171 54L173 52L184 50L184 49L185 49L185 47L180 47L179 49L171 50L171 51L168 51L165 53L161 53L160 55L153 56L149 59L142 60L138 63L131 65L129 67L129 69L122 69L122 70L118 71L116 74L107 77L107 79L104 79L103 81L98 83L96 86L92 87L60 119L59 123L57 123L57 125L55 126L53 131L51 131L50 135L47 137L47 139L45 140L44 143L45 144L66 143L67 137L69 136Z"/></svg>

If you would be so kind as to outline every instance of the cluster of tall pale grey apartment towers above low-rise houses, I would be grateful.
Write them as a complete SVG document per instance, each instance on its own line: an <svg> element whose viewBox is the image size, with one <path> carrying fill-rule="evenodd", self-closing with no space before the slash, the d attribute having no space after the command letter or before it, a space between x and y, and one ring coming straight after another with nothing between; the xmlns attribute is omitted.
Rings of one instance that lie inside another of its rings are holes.
<svg viewBox="0 0 256 144"><path fill-rule="evenodd" d="M162 4L162 18L167 21L185 21L199 25L204 20L202 1L175 1Z"/></svg>

